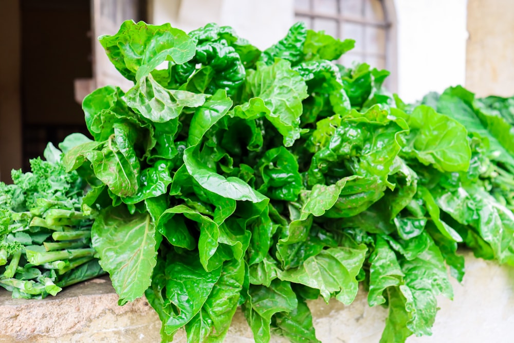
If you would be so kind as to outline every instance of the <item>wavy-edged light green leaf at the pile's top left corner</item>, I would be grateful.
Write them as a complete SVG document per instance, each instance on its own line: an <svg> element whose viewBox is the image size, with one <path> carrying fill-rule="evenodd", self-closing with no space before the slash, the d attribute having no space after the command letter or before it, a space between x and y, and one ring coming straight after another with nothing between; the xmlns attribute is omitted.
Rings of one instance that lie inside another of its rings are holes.
<svg viewBox="0 0 514 343"><path fill-rule="evenodd" d="M191 60L195 45L188 35L170 24L149 25L127 20L115 35L99 38L109 60L128 80L137 81L164 61Z"/></svg>

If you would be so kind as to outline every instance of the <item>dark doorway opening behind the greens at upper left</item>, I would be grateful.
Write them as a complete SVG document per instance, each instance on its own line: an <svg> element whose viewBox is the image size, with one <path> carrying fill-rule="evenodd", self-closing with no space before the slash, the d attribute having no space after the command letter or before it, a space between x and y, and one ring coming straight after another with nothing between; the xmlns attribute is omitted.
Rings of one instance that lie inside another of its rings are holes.
<svg viewBox="0 0 514 343"><path fill-rule="evenodd" d="M87 134L74 81L92 78L89 0L22 0L23 169L72 132Z"/></svg>

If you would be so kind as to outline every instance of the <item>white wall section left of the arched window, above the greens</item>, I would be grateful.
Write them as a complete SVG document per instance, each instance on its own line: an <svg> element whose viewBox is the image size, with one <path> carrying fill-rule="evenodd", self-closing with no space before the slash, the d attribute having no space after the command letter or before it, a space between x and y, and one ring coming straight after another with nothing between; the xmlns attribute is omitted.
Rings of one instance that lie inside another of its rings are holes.
<svg viewBox="0 0 514 343"><path fill-rule="evenodd" d="M152 0L150 21L189 32L215 22L265 49L284 37L294 22L293 0Z"/></svg>

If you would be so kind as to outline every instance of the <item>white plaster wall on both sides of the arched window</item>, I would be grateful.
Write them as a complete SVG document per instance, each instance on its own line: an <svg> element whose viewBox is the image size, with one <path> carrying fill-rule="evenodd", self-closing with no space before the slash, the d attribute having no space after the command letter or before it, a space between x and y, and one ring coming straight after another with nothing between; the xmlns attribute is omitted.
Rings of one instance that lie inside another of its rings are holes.
<svg viewBox="0 0 514 343"><path fill-rule="evenodd" d="M397 93L407 102L464 84L467 0L394 0L397 17ZM186 32L209 22L230 25L265 49L294 22L294 0L151 0L153 24Z"/></svg>

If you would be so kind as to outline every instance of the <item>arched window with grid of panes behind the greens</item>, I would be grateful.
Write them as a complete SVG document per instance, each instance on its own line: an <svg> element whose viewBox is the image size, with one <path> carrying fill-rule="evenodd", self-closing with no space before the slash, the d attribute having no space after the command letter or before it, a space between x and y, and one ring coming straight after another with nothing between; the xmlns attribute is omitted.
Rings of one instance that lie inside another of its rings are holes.
<svg viewBox="0 0 514 343"><path fill-rule="evenodd" d="M387 87L396 88L396 40L392 0L295 0L295 17L307 27L340 39L354 39L343 65L366 62L391 71Z"/></svg>

